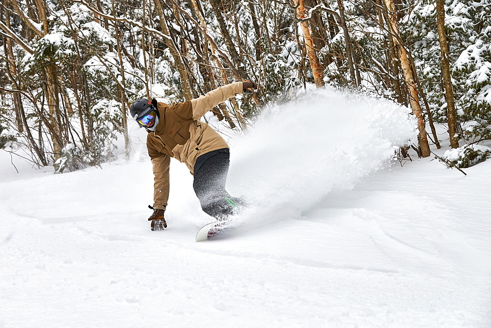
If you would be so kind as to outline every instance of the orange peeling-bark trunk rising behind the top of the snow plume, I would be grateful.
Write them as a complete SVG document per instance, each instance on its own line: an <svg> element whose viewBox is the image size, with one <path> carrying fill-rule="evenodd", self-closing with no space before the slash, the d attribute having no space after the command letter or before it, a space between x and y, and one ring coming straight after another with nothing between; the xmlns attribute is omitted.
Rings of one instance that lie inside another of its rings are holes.
<svg viewBox="0 0 491 328"><path fill-rule="evenodd" d="M307 18L307 13L305 12L305 7L303 6L303 0L295 0L295 5L297 6L297 18L304 20ZM319 63L319 58L317 57L317 51L315 50L314 40L310 34L309 22L308 20L300 21L300 28L302 31L303 41L305 42L305 47L307 49L308 59L310 61L310 68L312 69L312 75L314 76L315 86L318 88L324 87L324 68Z"/></svg>

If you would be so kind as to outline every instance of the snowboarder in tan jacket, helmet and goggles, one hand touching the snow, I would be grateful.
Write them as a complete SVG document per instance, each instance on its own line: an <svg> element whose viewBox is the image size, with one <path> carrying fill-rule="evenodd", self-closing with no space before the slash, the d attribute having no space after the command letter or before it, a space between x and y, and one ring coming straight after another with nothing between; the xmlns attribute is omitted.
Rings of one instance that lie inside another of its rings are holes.
<svg viewBox="0 0 491 328"><path fill-rule="evenodd" d="M240 198L225 190L230 150L226 141L208 124L199 121L208 110L238 93L253 93L253 82L233 82L191 101L166 105L153 99L139 99L130 108L131 116L147 132L148 155L153 164L154 204L148 218L152 230L167 227L164 212L169 198L170 158L185 163L194 176L193 189L208 215L224 220Z"/></svg>

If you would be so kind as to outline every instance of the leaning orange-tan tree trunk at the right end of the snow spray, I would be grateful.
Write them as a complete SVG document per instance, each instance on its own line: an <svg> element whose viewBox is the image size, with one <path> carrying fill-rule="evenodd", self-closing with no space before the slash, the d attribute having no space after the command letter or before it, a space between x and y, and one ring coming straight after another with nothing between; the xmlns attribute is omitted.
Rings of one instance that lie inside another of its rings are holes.
<svg viewBox="0 0 491 328"><path fill-rule="evenodd" d="M412 69L409 64L408 53L404 48L404 44L402 44L402 42L400 41L401 34L399 33L399 29L397 27L397 18L394 11L394 2L392 0L384 0L384 3L388 10L389 30L391 30L394 43L398 44L397 50L399 52L399 60L401 62L404 81L406 82L409 92L409 104L411 105L412 113L416 116L418 120L418 129L419 129L418 140L419 140L419 146L421 147L421 155L423 157L429 157L431 152L430 152L430 145L428 144L428 139L426 137L425 120L423 117L423 112L421 111L421 107L419 105L418 91L416 88L416 83L414 82Z"/></svg>

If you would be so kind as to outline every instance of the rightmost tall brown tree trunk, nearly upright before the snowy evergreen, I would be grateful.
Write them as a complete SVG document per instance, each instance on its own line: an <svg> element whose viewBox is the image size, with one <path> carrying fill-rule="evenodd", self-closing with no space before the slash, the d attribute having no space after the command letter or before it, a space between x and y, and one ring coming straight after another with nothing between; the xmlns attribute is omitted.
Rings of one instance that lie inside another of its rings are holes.
<svg viewBox="0 0 491 328"><path fill-rule="evenodd" d="M436 26L438 27L438 40L440 41L441 76L445 85L445 98L447 100L448 134L450 146L459 148L459 135L457 134L457 114L455 112L455 99L450 75L450 60L445 30L444 0L436 0Z"/></svg>

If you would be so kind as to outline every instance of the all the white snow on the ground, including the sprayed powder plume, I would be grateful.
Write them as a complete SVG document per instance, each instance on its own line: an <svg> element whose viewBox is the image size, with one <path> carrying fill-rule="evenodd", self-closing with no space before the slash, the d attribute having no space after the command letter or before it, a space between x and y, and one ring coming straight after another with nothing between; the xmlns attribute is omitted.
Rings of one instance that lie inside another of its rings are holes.
<svg viewBox="0 0 491 328"><path fill-rule="evenodd" d="M201 243L211 218L174 160L150 231L143 129L102 169L0 151L0 327L490 327L491 161L390 161L407 112L330 89L268 109L228 140L227 189L256 206Z"/></svg>

